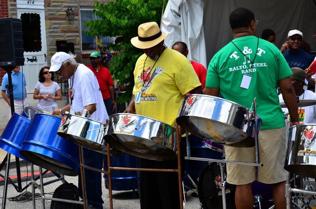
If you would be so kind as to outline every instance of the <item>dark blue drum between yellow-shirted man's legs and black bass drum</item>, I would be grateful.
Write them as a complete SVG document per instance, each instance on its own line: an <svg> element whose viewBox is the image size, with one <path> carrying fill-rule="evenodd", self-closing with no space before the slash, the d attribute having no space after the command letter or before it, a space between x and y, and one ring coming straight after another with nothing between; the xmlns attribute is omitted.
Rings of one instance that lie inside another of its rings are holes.
<svg viewBox="0 0 316 209"><path fill-rule="evenodd" d="M221 160L222 159L222 152L217 152L211 148L208 148L203 145L202 138L199 138L193 134L189 136L189 142L190 142L190 153L191 157L195 158L210 158L210 159L216 159ZM202 161L202 160L186 160L185 165L185 172L190 175L190 177L193 179L193 181L198 184L197 179L200 177L201 172L203 168L208 165L208 161ZM188 178L185 176L183 179L183 183L190 187L191 183L188 180Z"/></svg>

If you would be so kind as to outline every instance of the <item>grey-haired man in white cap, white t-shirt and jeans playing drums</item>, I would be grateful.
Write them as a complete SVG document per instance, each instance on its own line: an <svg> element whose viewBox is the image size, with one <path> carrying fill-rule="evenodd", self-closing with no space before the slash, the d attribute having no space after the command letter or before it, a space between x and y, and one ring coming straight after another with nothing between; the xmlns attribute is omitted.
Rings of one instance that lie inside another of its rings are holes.
<svg viewBox="0 0 316 209"><path fill-rule="evenodd" d="M109 116L103 103L99 83L93 72L83 64L78 64L76 55L65 52L57 52L52 56L49 71L55 72L62 80L68 80L69 102L70 104L55 109L53 113L64 114L66 111L71 114L80 112L83 109L89 111L90 119L106 124ZM91 149L84 148L85 165L102 169L103 154ZM86 169L86 190L88 199L88 209L102 209L102 175L97 171ZM79 175L80 176L80 175ZM81 180L78 179L78 188L81 191Z"/></svg>

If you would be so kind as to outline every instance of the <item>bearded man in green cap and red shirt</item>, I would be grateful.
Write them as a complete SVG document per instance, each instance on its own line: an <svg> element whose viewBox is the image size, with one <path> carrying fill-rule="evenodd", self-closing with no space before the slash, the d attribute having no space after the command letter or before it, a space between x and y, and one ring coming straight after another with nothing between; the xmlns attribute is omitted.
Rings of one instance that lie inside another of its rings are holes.
<svg viewBox="0 0 316 209"><path fill-rule="evenodd" d="M99 52L92 52L90 55L90 61L91 65L87 65L87 67L92 70L94 75L97 77L103 97L103 102L106 107L106 112L110 116L112 114L113 107L115 107L113 79L109 70L102 66L102 63L100 62L101 55Z"/></svg>

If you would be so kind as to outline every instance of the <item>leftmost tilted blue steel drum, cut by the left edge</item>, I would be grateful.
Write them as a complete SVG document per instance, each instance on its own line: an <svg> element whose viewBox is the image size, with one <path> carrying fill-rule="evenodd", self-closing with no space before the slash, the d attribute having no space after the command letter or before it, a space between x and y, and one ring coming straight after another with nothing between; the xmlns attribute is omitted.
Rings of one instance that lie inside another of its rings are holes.
<svg viewBox="0 0 316 209"><path fill-rule="evenodd" d="M0 136L0 148L25 160L21 156L20 150L31 123L32 120L27 119L18 113L13 113Z"/></svg>

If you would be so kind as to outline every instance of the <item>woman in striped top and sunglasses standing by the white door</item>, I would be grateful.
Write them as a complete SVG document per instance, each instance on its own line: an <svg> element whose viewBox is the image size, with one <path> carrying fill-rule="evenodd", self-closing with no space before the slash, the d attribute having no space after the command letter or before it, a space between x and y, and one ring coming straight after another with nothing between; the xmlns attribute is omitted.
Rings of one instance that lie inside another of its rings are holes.
<svg viewBox="0 0 316 209"><path fill-rule="evenodd" d="M56 100L62 100L61 90L54 81L54 73L48 72L49 67L42 67L39 82L35 85L34 99L39 99L37 107L52 112L53 107L58 108Z"/></svg>

